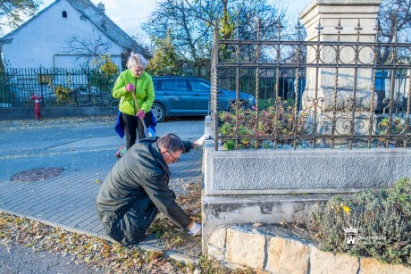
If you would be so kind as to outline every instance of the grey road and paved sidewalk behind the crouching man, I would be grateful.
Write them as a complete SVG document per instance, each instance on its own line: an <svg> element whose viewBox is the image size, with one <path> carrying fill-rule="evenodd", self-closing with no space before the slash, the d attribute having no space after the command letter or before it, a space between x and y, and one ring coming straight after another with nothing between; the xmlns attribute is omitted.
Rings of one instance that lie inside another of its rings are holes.
<svg viewBox="0 0 411 274"><path fill-rule="evenodd" d="M114 153L124 142L115 135L113 121L115 118L1 121L0 211L108 238L96 216L95 201L117 161ZM203 134L204 120L163 122L156 130L157 136L175 132L182 139L194 140ZM21 171L45 168L63 168L63 172L51 179L12 180ZM170 186L177 195L184 192L185 185L201 181L201 168L201 149L183 154L170 166ZM142 246L146 245L158 243L147 240ZM184 253L199 255L199 240Z"/></svg>

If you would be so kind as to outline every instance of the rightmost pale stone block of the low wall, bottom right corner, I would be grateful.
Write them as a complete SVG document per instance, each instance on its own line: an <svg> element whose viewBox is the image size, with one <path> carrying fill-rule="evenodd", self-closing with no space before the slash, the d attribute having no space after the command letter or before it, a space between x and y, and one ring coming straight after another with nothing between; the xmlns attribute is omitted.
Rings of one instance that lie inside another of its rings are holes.
<svg viewBox="0 0 411 274"><path fill-rule="evenodd" d="M376 259L361 258L359 274L411 274L411 269L400 264L387 264Z"/></svg>

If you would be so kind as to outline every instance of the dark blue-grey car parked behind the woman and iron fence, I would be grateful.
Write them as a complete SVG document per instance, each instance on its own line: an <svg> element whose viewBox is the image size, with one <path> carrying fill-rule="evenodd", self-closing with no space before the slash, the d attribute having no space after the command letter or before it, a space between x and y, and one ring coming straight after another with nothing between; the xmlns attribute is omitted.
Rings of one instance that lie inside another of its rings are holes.
<svg viewBox="0 0 411 274"><path fill-rule="evenodd" d="M205 116L209 113L211 83L205 79L182 76L153 77L155 102L151 107L157 121L166 116ZM218 88L219 110L230 111L236 92ZM253 95L240 93L245 108L256 104Z"/></svg>

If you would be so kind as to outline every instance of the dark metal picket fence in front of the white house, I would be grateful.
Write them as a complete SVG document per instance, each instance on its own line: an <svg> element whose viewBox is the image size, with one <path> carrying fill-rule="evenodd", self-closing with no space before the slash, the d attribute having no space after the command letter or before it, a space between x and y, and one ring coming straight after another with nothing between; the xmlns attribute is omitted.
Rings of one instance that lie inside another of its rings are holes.
<svg viewBox="0 0 411 274"><path fill-rule="evenodd" d="M42 106L116 105L117 77L90 69L7 69L0 72L0 107L32 107L34 94L43 96Z"/></svg>

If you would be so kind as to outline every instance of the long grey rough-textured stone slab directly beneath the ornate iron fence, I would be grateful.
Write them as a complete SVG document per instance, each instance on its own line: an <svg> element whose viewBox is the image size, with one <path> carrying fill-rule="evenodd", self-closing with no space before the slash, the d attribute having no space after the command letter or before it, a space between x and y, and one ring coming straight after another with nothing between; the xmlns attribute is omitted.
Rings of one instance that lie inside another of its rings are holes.
<svg viewBox="0 0 411 274"><path fill-rule="evenodd" d="M390 187L411 176L411 154L403 148L228 152L206 147L204 164L206 195L349 193Z"/></svg>

